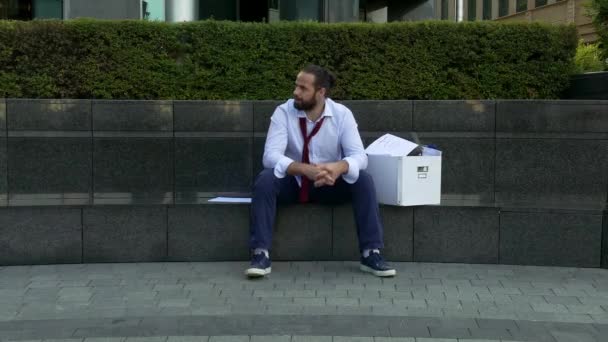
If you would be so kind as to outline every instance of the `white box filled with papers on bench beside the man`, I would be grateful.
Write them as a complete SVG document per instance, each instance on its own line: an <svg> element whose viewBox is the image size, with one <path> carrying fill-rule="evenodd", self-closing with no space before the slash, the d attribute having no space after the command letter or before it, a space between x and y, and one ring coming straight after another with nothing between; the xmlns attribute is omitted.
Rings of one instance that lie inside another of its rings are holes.
<svg viewBox="0 0 608 342"><path fill-rule="evenodd" d="M440 204L441 151L425 147L422 156L408 157L416 147L411 141L385 134L365 150L366 171L374 179L378 202L399 206Z"/></svg>

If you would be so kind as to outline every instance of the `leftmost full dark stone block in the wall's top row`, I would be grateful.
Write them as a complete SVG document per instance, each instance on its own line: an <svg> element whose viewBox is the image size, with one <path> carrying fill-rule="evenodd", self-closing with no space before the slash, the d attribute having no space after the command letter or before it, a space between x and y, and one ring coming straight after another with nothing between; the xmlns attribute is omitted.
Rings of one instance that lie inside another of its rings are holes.
<svg viewBox="0 0 608 342"><path fill-rule="evenodd" d="M88 131L89 100L7 100L9 130Z"/></svg>

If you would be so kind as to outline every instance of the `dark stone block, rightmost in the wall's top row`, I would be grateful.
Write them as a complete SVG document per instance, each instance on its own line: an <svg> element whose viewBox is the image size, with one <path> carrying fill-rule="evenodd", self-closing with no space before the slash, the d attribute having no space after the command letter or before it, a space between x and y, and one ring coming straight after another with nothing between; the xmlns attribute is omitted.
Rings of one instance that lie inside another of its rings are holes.
<svg viewBox="0 0 608 342"><path fill-rule="evenodd" d="M497 132L608 132L607 101L498 101Z"/></svg>

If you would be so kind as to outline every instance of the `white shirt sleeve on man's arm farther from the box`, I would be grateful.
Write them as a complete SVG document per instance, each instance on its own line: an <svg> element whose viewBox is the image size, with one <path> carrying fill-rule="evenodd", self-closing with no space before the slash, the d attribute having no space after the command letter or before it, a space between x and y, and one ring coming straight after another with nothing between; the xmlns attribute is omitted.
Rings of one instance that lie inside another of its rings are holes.
<svg viewBox="0 0 608 342"><path fill-rule="evenodd" d="M285 114L281 108L277 107L270 118L270 127L264 146L264 167L274 169L274 175L277 178L284 178L287 168L293 163L293 159L285 156L287 148L287 117Z"/></svg>

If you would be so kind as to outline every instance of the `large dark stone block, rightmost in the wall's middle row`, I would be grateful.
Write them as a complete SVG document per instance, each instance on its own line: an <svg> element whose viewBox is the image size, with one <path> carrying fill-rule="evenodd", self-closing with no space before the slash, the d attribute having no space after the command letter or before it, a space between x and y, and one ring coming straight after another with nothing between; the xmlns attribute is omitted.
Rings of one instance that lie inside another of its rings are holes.
<svg viewBox="0 0 608 342"><path fill-rule="evenodd" d="M498 139L496 201L529 207L604 208L608 141Z"/></svg>

